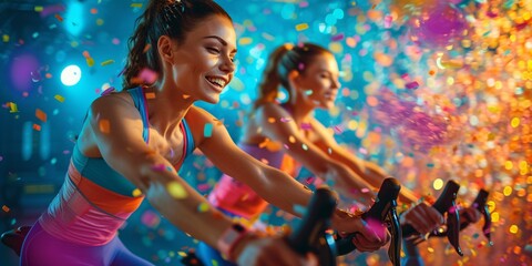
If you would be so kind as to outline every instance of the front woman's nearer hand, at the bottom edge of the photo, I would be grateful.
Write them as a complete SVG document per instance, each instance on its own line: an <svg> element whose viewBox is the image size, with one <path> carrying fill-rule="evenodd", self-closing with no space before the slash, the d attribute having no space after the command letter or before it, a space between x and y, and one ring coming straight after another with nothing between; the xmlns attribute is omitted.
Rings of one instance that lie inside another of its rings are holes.
<svg viewBox="0 0 532 266"><path fill-rule="evenodd" d="M238 265L318 265L316 255L308 253L306 256L301 256L297 254L288 246L288 242L280 236L259 237L249 235L235 247L235 257Z"/></svg>

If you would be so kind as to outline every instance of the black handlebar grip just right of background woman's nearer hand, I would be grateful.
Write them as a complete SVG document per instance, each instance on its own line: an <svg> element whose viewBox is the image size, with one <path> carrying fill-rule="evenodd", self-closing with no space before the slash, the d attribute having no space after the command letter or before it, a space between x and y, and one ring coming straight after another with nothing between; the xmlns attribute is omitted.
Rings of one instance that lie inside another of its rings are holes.
<svg viewBox="0 0 532 266"><path fill-rule="evenodd" d="M432 207L434 207L442 215L447 213L447 238L454 247L454 250L457 250L460 256L463 256L459 242L460 217L458 215L458 207L456 204L458 190L460 190L460 185L456 181L449 181ZM402 226L402 235L405 237L409 237L415 234L419 234L419 232L417 232L411 225L407 224Z"/></svg>

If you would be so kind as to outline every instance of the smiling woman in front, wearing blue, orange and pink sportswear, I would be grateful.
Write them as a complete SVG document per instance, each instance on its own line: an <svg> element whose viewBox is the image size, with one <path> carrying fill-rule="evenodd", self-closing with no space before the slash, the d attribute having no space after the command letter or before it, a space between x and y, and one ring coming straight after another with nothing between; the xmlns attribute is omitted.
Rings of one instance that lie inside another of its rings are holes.
<svg viewBox="0 0 532 266"><path fill-rule="evenodd" d="M120 92L90 106L63 186L28 233L22 265L151 265L129 252L117 231L146 198L180 229L241 265L304 265L280 236L262 236L212 207L180 175L200 149L217 167L276 206L299 215L311 192L239 150L224 125L195 101L216 103L231 82L236 33L211 0L151 0L130 39ZM209 126L212 133L204 135ZM238 162L238 163L235 163ZM342 214L340 211L338 214ZM360 247L387 242L360 218L335 215Z"/></svg>

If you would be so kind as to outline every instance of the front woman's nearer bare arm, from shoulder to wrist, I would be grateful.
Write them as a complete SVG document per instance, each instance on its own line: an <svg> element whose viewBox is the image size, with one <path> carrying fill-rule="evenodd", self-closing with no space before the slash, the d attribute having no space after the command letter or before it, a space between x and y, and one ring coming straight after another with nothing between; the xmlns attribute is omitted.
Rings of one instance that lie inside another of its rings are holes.
<svg viewBox="0 0 532 266"><path fill-rule="evenodd" d="M172 224L216 246L232 221L215 208L197 211L207 201L177 175L165 157L144 143L142 120L131 100L120 94L95 100L85 123L84 130L90 132L81 142L95 143L105 162L139 188L132 195L142 193Z"/></svg>

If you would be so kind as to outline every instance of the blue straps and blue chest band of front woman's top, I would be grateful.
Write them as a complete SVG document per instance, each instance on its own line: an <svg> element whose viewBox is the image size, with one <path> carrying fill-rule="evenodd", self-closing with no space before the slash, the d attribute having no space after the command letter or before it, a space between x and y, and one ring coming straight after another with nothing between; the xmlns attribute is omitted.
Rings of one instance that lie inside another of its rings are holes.
<svg viewBox="0 0 532 266"><path fill-rule="evenodd" d="M127 90L135 108L139 110L143 123L142 136L144 142L150 140L150 123L147 117L147 105L144 92L141 86ZM192 136L191 129L186 120L182 120L183 123L183 136L186 143L186 151L184 158L186 158L195 149L194 139ZM81 176L94 182L95 184L116 192L125 196L132 196L133 191L136 188L133 183L122 176L120 173L109 166L109 164L102 157L88 157L83 155L78 147L74 146L72 152L72 162L75 168L80 172ZM178 170L176 170L178 171Z"/></svg>

